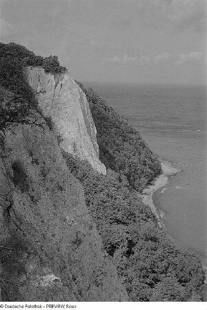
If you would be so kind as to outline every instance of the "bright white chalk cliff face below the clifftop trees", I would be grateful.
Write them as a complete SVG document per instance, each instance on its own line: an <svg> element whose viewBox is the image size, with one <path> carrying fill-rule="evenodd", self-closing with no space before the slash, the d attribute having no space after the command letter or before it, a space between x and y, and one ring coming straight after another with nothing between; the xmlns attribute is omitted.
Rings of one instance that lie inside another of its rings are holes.
<svg viewBox="0 0 207 310"><path fill-rule="evenodd" d="M106 174L106 167L99 161L97 130L79 85L67 73L55 77L42 68L28 68L27 75L28 83L37 92L43 115L51 116L61 136L60 147Z"/></svg>

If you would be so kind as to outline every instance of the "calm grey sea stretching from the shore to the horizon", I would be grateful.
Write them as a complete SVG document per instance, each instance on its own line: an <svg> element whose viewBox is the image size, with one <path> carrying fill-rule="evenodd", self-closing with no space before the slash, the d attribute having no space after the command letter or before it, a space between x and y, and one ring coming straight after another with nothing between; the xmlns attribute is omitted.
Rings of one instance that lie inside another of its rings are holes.
<svg viewBox="0 0 207 310"><path fill-rule="evenodd" d="M86 83L183 172L155 193L168 234L207 266L206 89L201 86Z"/></svg>

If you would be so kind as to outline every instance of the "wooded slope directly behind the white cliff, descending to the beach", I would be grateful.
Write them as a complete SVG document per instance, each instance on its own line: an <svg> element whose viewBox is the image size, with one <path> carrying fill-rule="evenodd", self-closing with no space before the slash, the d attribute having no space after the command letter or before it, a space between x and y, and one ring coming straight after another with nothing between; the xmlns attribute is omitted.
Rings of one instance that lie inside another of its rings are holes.
<svg viewBox="0 0 207 310"><path fill-rule="evenodd" d="M155 154L130 123L108 107L91 88L86 90L92 118L97 128L100 160L106 168L122 172L132 188L141 192L161 172Z"/></svg>

